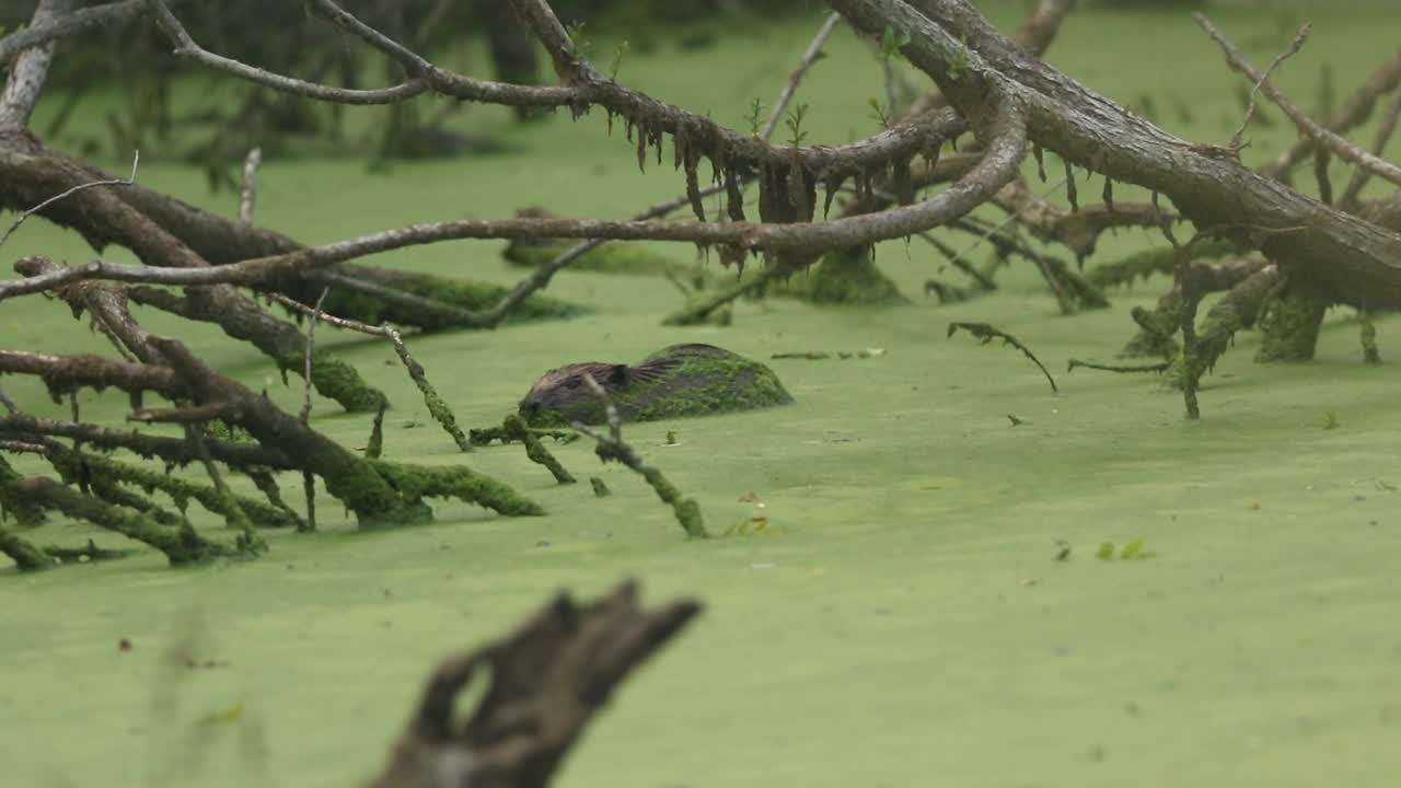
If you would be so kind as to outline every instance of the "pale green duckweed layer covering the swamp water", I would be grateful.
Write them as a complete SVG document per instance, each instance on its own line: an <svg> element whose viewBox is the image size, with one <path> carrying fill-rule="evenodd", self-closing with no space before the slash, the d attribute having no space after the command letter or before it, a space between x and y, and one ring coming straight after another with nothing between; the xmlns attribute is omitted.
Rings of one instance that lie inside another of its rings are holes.
<svg viewBox="0 0 1401 788"><path fill-rule="evenodd" d="M1290 20L1307 18L1234 8L1217 21L1261 63L1281 35L1288 42ZM1281 84L1313 95L1324 60L1339 86L1356 84L1395 45L1394 11L1372 8L1316 15ZM1003 8L998 20L1016 14ZM738 125L752 95L776 93L815 24L708 52L664 46L654 60L625 62L621 77ZM880 90L857 42L842 35L831 55L804 87L813 142L869 133L866 98ZM1086 11L1051 60L1121 101L1152 94L1163 125L1192 139L1224 142L1238 116L1219 55L1184 17ZM1174 109L1188 101L1191 118ZM1278 112L1267 115L1275 125L1254 128L1252 161L1293 137ZM601 115L577 125L560 115L520 136L542 153L405 164L389 175L269 161L259 217L331 241L467 213L509 216L541 195L565 215L626 216L679 192L670 168L639 175ZM1355 139L1370 139L1370 128ZM233 210L198 172L150 164L142 179ZM1098 193L1098 179L1080 193ZM443 244L374 262L507 285L521 273L500 245ZM1163 243L1125 231L1105 237L1097 259L1150 245ZM693 254L654 248L678 262ZM4 251L91 257L41 222ZM576 475L602 477L612 496L553 484L520 446L460 454L387 344L322 328L318 348L394 404L387 460L465 463L549 515L507 519L434 499L434 524L352 533L322 496L321 533L270 533L258 561L170 569L142 552L41 575L0 564L0 781L353 785L380 766L441 655L496 637L555 589L594 595L637 576L647 599L695 595L706 611L616 695L567 760L563 787L1393 785L1401 320L1377 322L1381 366L1360 363L1345 308L1330 313L1309 365L1257 365L1258 335L1241 335L1205 381L1203 419L1187 422L1181 398L1152 376L1062 372L1070 358L1111 358L1133 332L1128 310L1152 304L1163 279L1111 292L1111 310L1065 318L1024 264L1002 276L998 294L951 307L922 294L941 265L926 247L884 244L877 265L908 306L741 301L731 327L668 328L658 322L681 294L664 279L566 272L549 294L593 313L410 341L464 426L499 423L542 370L573 360L640 359L675 342L765 360L793 405L623 430L700 503L712 533L768 517L757 536L686 540L640 478L601 467L584 442L551 449ZM247 348L140 317L297 408L300 381L284 387ZM955 320L989 321L1027 342L1063 394L1014 351L946 339ZM85 324L38 299L0 303L0 332L4 346L105 352ZM864 348L885 352L768 360ZM66 412L32 381L0 384L36 412ZM81 407L118 423L126 401L84 394ZM367 442L370 421L317 401L314 425L349 447ZM28 457L13 464L43 470ZM298 480L283 481L289 501L298 491ZM740 501L748 494L759 501ZM192 513L233 541L217 519ZM64 520L25 534L125 545ZM1103 543L1136 540L1153 557L1096 557ZM185 642L196 667L168 666L167 652Z"/></svg>

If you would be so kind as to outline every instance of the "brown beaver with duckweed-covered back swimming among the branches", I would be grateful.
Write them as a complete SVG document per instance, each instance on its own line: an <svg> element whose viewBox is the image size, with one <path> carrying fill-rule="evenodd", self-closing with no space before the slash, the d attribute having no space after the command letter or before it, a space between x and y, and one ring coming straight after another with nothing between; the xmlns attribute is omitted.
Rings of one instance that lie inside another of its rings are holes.
<svg viewBox="0 0 1401 788"><path fill-rule="evenodd" d="M608 391L618 415L629 422L751 411L793 401L769 367L724 348L692 342L663 348L637 366L583 362L552 369L521 400L521 418L532 426L572 421L607 423L602 404L584 384L584 373Z"/></svg>

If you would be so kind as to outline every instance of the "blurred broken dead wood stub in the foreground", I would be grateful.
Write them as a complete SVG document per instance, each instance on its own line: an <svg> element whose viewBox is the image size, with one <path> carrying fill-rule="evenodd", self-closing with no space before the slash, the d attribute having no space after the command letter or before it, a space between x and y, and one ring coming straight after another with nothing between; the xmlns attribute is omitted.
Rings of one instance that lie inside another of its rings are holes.
<svg viewBox="0 0 1401 788"><path fill-rule="evenodd" d="M644 610L637 583L579 604L558 595L510 635L443 660L371 788L542 788L618 686L700 611L682 599ZM458 694L490 686L460 718Z"/></svg>

